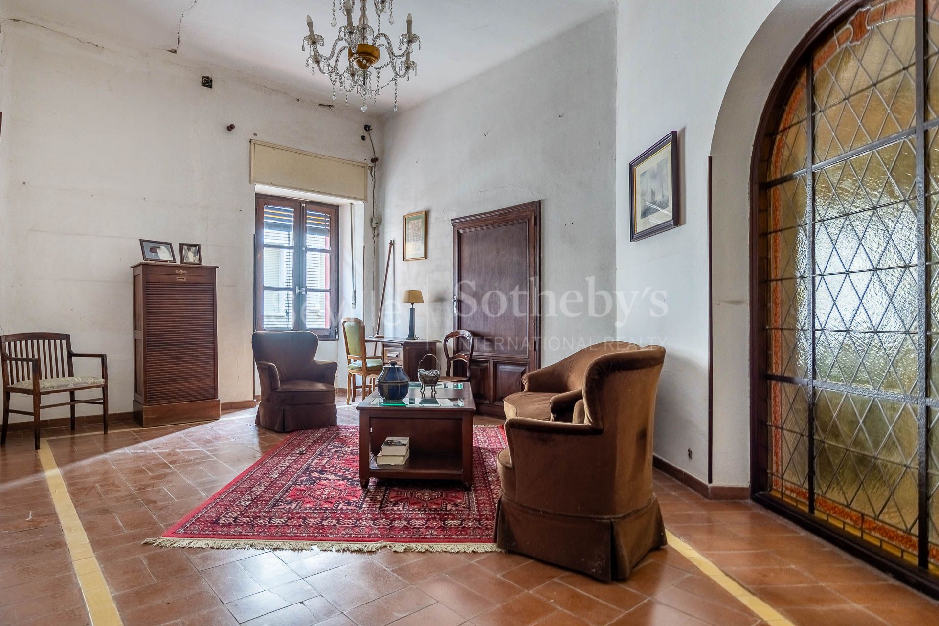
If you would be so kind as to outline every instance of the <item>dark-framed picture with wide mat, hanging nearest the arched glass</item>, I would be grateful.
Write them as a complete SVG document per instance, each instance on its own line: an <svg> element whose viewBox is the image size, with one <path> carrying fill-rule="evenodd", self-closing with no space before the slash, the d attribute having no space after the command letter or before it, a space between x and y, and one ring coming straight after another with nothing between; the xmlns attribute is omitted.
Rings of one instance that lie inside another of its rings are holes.
<svg viewBox="0 0 939 626"><path fill-rule="evenodd" d="M678 133L672 130L629 163L629 240L678 225Z"/></svg>

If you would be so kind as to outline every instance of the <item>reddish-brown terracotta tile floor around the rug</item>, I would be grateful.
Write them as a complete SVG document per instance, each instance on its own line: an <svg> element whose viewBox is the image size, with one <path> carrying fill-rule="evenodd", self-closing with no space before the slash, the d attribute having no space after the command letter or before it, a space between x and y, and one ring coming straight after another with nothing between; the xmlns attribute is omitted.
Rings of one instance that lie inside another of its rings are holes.
<svg viewBox="0 0 939 626"><path fill-rule="evenodd" d="M339 406L341 422L356 423ZM48 444L125 624L764 623L672 547L604 585L508 554L142 545L277 444L253 419L44 432L61 437ZM659 473L655 490L672 533L794 623L939 623L939 604L749 502L704 500ZM89 623L30 433L0 450L0 495L0 623Z"/></svg>

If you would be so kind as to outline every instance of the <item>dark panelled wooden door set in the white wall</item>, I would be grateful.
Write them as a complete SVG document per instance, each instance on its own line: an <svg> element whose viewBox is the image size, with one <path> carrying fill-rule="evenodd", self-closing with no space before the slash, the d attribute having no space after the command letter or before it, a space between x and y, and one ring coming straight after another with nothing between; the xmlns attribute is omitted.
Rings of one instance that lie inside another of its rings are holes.
<svg viewBox="0 0 939 626"><path fill-rule="evenodd" d="M454 328L475 336L479 413L504 416L502 399L540 366L540 216L532 202L453 220Z"/></svg>

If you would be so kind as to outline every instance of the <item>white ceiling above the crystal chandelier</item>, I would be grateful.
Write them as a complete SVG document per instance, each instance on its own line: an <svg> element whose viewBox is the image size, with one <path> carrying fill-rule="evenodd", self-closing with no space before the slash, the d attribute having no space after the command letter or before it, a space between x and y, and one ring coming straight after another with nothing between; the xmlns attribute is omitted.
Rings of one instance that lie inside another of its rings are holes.
<svg viewBox="0 0 939 626"><path fill-rule="evenodd" d="M331 47L331 0L4 0L8 15L69 34L102 38L144 51L177 49L181 57L253 74L300 97L331 98L331 85L312 77L300 51L306 14ZM616 0L395 0L397 40L408 12L422 50L418 75L400 84L399 110L498 65L615 6ZM370 20L375 11L367 0ZM358 4L358 3L357 3ZM181 20L180 20L181 16ZM341 16L340 16L341 17ZM180 26L181 23L181 26ZM177 44L177 31L179 43ZM167 53L168 54L168 53ZM546 71L550 70L546 60ZM340 100L342 96L340 95ZM392 109L391 89L378 111ZM361 101L360 101L361 103ZM350 101L349 106L354 102Z"/></svg>

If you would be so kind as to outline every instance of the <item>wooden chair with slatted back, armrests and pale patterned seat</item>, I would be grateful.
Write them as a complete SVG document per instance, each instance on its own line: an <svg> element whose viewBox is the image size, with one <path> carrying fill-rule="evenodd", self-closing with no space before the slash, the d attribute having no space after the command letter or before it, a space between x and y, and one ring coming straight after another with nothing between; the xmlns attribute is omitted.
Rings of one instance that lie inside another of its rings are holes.
<svg viewBox="0 0 939 626"><path fill-rule="evenodd" d="M100 359L100 376L76 376L75 357ZM100 405L104 432L108 432L108 358L103 354L72 352L71 337L59 332L22 332L0 336L0 370L3 371L3 434L0 445L7 443L10 413L31 415L36 450L39 449L39 411L43 408L69 406L71 430L75 430L75 405ZM100 398L77 400L76 391L101 389ZM10 408L14 393L33 397L33 411ZM52 393L68 393L69 402L41 405L40 399Z"/></svg>

